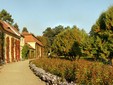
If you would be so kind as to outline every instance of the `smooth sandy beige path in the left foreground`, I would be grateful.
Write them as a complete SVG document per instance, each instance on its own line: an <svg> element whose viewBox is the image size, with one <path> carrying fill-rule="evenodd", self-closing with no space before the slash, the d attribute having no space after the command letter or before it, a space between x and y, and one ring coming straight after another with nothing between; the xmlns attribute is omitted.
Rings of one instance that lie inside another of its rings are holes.
<svg viewBox="0 0 113 85"><path fill-rule="evenodd" d="M29 61L9 63L0 69L0 85L45 85L29 69Z"/></svg>

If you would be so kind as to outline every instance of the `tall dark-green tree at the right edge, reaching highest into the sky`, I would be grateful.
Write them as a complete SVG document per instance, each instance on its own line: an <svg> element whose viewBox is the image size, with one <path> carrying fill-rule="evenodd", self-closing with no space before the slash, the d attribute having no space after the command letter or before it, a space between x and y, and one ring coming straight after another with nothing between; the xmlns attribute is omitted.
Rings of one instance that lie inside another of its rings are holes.
<svg viewBox="0 0 113 85"><path fill-rule="evenodd" d="M96 59L113 60L113 6L103 12L92 26L91 37L94 37ZM93 50L92 50L93 51ZM113 62L112 62L113 64Z"/></svg>

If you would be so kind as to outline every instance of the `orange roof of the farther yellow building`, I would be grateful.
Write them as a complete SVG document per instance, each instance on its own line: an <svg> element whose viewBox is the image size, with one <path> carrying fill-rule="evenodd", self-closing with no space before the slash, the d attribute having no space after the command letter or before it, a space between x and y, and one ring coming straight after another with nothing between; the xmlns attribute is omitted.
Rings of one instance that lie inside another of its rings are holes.
<svg viewBox="0 0 113 85"><path fill-rule="evenodd" d="M22 35L24 35L25 43L27 43L27 42L36 42L40 46L43 46L43 44L33 34L28 33L28 32L24 32L24 33L22 33Z"/></svg>

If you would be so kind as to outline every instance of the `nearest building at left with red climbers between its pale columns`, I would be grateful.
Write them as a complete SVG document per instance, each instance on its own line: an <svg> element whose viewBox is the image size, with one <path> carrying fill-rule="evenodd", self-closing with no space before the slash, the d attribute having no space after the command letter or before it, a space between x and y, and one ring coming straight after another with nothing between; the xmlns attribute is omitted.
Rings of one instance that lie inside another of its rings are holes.
<svg viewBox="0 0 113 85"><path fill-rule="evenodd" d="M16 28L0 20L0 61L9 63L21 59L20 39L22 35Z"/></svg>

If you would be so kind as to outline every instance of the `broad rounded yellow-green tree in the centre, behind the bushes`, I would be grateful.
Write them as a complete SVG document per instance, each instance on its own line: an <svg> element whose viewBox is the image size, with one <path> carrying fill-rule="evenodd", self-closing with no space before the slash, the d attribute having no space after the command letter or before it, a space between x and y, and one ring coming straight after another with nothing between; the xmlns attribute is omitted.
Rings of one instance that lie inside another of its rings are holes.
<svg viewBox="0 0 113 85"><path fill-rule="evenodd" d="M73 59L82 55L83 44L87 37L84 30L73 26L72 29L67 28L56 36L52 48L58 55L65 55Z"/></svg>

